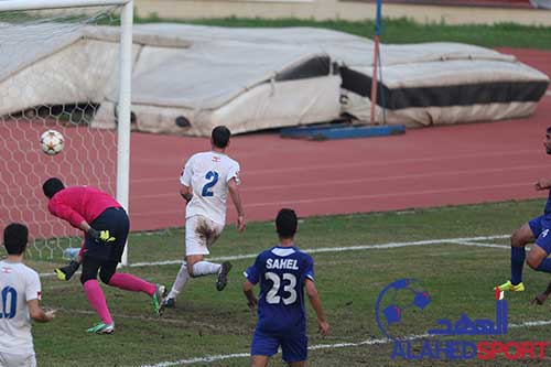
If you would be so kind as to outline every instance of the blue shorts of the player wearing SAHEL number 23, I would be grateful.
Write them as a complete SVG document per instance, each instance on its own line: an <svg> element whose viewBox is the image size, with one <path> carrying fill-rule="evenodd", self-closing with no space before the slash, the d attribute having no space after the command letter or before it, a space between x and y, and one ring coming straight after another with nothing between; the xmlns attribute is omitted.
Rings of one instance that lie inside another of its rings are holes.
<svg viewBox="0 0 551 367"><path fill-rule="evenodd" d="M252 334L251 356L273 356L281 345L285 363L307 359L309 338L305 332L264 333L255 330Z"/></svg>

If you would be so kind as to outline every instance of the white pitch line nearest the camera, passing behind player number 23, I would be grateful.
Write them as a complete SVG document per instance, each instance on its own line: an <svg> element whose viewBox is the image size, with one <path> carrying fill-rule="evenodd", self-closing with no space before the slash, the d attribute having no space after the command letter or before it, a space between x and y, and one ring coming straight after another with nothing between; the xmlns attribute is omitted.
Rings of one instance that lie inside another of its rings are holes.
<svg viewBox="0 0 551 367"><path fill-rule="evenodd" d="M521 324L509 324L508 328L520 328L520 327L531 327L531 326L547 326L551 325L551 320L542 320L542 321L527 321ZM419 335L408 335L401 341L415 341L420 338L433 337L433 335L429 334L419 334ZM388 344L393 341L383 338L383 339L367 339L358 343L335 343L335 344L317 344L309 346L309 350L316 349L336 349L336 348L346 348L346 347L357 347L361 345L377 345L377 344ZM196 357L191 359L180 359L174 361L161 361L156 365L142 365L141 367L170 367L177 365L193 365L198 363L210 363L217 360L233 359L233 358L247 358L250 357L249 353L234 353L226 355L212 355L204 357Z"/></svg>

